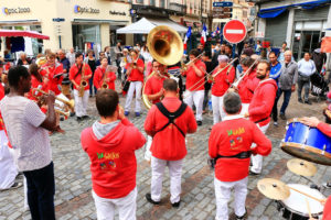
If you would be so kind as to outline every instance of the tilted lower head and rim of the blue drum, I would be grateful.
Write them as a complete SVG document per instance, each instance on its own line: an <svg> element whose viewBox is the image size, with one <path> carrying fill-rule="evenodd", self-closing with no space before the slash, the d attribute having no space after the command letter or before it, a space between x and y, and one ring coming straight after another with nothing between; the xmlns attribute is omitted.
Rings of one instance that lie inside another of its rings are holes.
<svg viewBox="0 0 331 220"><path fill-rule="evenodd" d="M320 152L314 152L316 148L311 146L295 143L281 143L281 150L295 157L331 166L331 158L322 155Z"/></svg>

